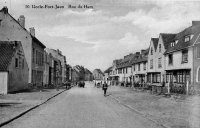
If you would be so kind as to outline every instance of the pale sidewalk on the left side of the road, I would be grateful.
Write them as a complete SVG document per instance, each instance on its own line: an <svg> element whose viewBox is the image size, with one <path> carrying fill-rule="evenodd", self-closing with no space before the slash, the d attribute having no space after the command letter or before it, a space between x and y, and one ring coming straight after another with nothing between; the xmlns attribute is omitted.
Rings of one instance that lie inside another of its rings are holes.
<svg viewBox="0 0 200 128"><path fill-rule="evenodd" d="M25 112L45 103L64 89L43 89L42 91L27 91L16 94L0 95L0 127Z"/></svg>

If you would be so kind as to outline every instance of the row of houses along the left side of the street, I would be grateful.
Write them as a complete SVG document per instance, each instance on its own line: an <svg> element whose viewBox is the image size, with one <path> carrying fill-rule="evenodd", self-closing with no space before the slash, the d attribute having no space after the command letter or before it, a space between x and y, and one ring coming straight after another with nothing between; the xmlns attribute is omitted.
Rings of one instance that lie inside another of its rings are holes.
<svg viewBox="0 0 200 128"><path fill-rule="evenodd" d="M60 50L46 48L34 27L25 28L8 8L0 10L0 93L17 91L27 85L59 85L71 79L71 66Z"/></svg>

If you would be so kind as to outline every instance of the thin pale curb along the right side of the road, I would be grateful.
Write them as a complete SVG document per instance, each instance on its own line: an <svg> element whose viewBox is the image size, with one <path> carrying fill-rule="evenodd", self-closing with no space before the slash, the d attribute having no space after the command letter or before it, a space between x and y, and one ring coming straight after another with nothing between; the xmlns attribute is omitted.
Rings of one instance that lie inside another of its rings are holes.
<svg viewBox="0 0 200 128"><path fill-rule="evenodd" d="M113 96L112 94L111 94L110 96L111 96L112 99L114 99L115 101L117 101L119 104L123 105L124 107L126 107L126 108L128 108L128 109L130 109L130 110L132 110L132 111L134 111L134 112L137 113L138 115L141 115L142 117L144 117L144 118L150 120L151 122L155 123L156 125L161 126L161 127L163 127L163 128L171 128L171 127L169 127L169 126L167 126L167 125L165 125L165 124L160 124L160 123L158 123L156 120L153 120L153 119L149 118L149 117L148 117L148 114L144 114L144 113L138 111L137 109L133 108L132 106L122 103L120 100L118 100L118 99L117 99L115 96Z"/></svg>

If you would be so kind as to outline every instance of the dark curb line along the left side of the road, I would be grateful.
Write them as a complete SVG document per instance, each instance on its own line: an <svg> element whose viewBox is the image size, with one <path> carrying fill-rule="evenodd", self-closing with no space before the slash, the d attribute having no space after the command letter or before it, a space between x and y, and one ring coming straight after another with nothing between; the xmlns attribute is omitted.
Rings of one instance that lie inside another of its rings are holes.
<svg viewBox="0 0 200 128"><path fill-rule="evenodd" d="M48 102L49 100L53 99L54 97L58 96L59 94L65 92L65 91L67 91L67 90L63 90L63 91L61 91L61 92L59 92L59 93L53 95L52 97L48 98L47 100L45 100L45 101L43 101L43 102L41 102L41 103L39 103L39 104L37 104L37 105L35 105L35 106L33 106L33 107L27 109L27 110L25 110L24 112L18 114L17 116L15 116L15 117L13 117L13 118L7 120L7 121L4 121L3 123L0 123L0 127L2 127L2 126L4 126L4 125L6 125L6 124L8 124L8 123L10 123L10 122L12 122L12 121L18 119L19 117L25 115L26 113L30 112L30 111L33 110L33 109L36 109L37 107L39 107L39 106L45 104L45 103Z"/></svg>

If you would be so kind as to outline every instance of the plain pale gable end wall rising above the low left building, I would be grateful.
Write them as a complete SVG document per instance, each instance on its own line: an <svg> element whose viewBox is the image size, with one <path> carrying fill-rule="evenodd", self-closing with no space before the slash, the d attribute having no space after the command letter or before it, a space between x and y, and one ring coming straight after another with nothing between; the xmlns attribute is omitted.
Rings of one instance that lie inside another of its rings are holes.
<svg viewBox="0 0 200 128"><path fill-rule="evenodd" d="M32 38L16 21L8 14L0 12L0 39L2 41L21 41L24 49L25 58L31 69ZM29 70L29 83L31 83L31 70Z"/></svg>

